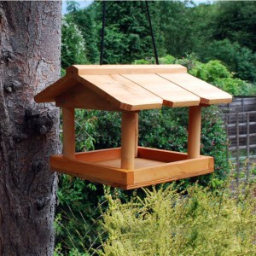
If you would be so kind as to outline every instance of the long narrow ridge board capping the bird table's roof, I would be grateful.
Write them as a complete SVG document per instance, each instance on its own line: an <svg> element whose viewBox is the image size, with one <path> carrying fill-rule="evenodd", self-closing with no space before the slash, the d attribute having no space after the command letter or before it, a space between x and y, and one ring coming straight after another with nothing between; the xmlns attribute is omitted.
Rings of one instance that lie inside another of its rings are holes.
<svg viewBox="0 0 256 256"><path fill-rule="evenodd" d="M67 73L85 74L125 74L125 73L186 73L182 65L73 65L67 68Z"/></svg>

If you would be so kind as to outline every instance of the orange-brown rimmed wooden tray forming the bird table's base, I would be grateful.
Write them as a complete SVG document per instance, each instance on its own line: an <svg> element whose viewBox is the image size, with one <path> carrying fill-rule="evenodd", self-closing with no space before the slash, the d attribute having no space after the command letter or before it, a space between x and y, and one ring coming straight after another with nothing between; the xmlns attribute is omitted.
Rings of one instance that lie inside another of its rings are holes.
<svg viewBox="0 0 256 256"><path fill-rule="evenodd" d="M134 170L125 170L119 168L120 152L120 148L111 148L79 153L75 160L52 156L51 168L121 189L137 189L211 173L214 167L213 158L209 156L189 160L187 154L138 147L140 157L134 159Z"/></svg>

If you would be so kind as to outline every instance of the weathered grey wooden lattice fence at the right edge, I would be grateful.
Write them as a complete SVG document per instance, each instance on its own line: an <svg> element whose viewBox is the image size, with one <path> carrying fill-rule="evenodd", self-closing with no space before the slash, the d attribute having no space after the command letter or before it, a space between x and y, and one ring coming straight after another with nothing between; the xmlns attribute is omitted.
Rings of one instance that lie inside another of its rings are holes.
<svg viewBox="0 0 256 256"><path fill-rule="evenodd" d="M248 181L256 175L256 97L235 97L220 108L230 140L229 160L236 166L236 181Z"/></svg>

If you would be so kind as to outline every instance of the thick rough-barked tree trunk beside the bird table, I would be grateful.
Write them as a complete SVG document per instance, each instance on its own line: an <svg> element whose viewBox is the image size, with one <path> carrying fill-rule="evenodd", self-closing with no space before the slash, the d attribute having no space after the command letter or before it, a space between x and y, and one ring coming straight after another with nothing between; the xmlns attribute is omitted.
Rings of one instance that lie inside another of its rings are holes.
<svg viewBox="0 0 256 256"><path fill-rule="evenodd" d="M58 110L33 96L60 75L61 2L0 2L0 255L52 255Z"/></svg>

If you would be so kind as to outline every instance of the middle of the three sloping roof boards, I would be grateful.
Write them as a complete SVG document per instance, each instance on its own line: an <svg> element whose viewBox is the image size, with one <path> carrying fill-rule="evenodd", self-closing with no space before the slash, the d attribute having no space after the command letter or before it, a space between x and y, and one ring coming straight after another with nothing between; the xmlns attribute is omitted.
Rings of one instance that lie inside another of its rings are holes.
<svg viewBox="0 0 256 256"><path fill-rule="evenodd" d="M165 106L187 107L196 106L200 103L199 96L195 96L188 90L184 90L177 84L173 84L156 74L124 74L123 76L162 98Z"/></svg>

